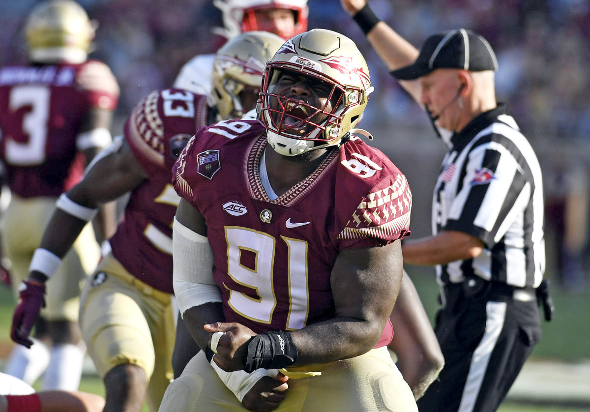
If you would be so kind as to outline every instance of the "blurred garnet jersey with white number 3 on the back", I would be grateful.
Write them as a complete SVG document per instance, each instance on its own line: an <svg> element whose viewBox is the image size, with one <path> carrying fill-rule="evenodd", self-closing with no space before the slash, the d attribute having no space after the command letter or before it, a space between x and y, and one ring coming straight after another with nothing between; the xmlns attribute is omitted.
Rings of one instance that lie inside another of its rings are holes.
<svg viewBox="0 0 590 412"><path fill-rule="evenodd" d="M58 197L76 184L84 169L76 153L89 147L77 141L81 123L91 107L114 110L118 99L100 61L0 68L0 158L11 191Z"/></svg>

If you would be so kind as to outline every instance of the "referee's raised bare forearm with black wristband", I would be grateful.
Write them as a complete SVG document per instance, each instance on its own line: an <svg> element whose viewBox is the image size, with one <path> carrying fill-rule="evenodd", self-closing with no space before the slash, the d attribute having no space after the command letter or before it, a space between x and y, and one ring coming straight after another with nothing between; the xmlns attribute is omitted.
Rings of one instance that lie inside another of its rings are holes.
<svg viewBox="0 0 590 412"><path fill-rule="evenodd" d="M386 22L380 21L366 0L340 0L340 3L365 33L389 71L414 63L418 57L418 49ZM400 81L399 84L420 103L420 86L417 81Z"/></svg>

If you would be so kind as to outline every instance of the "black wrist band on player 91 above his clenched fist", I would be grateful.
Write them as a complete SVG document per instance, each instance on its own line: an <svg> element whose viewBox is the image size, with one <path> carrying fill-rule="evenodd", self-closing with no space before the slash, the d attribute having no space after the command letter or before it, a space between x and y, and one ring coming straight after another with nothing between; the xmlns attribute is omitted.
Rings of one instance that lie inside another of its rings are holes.
<svg viewBox="0 0 590 412"><path fill-rule="evenodd" d="M244 371L249 374L258 368L280 369L292 365L299 351L289 332L264 332L248 341Z"/></svg>

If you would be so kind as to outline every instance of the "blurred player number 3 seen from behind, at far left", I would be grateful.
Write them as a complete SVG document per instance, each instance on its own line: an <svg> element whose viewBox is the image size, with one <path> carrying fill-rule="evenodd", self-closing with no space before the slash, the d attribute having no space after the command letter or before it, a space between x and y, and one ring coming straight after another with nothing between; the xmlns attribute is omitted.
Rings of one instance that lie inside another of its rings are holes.
<svg viewBox="0 0 590 412"><path fill-rule="evenodd" d="M35 248L55 201L80 180L85 162L112 142L109 127L119 99L109 67L87 59L94 23L76 2L41 2L32 9L25 34L29 63L0 68L0 160L12 194L3 216L2 247L12 262L17 297L30 293L30 286L42 287L21 281L30 264L38 268L41 255ZM61 197L57 208L68 210L67 198ZM112 211L110 226L97 226L102 231L114 231ZM94 211L80 216L86 223ZM44 389L78 388L85 353L77 325L78 296L99 257L99 245L86 225L63 260L46 261L55 276L47 285L45 309L35 338L13 336L24 346L12 351L8 374L32 383L45 371Z"/></svg>

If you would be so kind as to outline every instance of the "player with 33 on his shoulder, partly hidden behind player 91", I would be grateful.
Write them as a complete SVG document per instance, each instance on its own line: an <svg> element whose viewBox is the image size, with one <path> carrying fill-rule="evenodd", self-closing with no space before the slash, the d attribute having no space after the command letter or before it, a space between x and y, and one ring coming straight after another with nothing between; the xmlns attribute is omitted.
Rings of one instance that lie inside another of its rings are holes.
<svg viewBox="0 0 590 412"><path fill-rule="evenodd" d="M182 89L150 93L127 120L124 138L67 192L71 207L56 210L45 230L38 250L44 259L60 259L80 233L82 213L131 192L124 220L109 240L112 252L80 299L83 338L106 386L105 410L140 411L144 400L150 410L158 409L173 377L172 220L180 198L171 184L172 165L200 127L219 115L253 109L256 99L248 93L258 96L264 63L282 44L274 34L248 32L218 51L212 101L219 110L209 106L208 96ZM28 284L34 286L15 312L12 328L20 339L27 338L37 315L37 285L51 276L47 267L31 271Z"/></svg>

